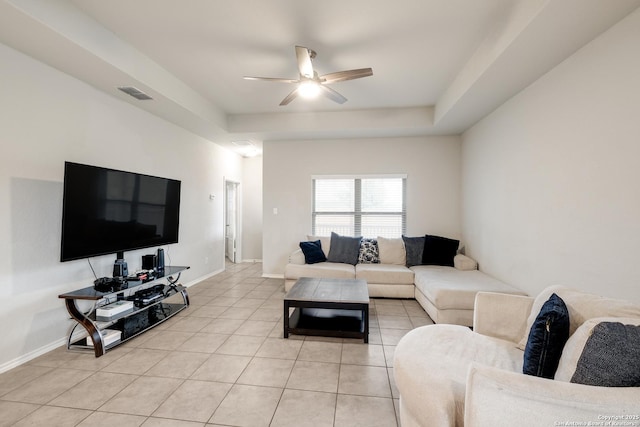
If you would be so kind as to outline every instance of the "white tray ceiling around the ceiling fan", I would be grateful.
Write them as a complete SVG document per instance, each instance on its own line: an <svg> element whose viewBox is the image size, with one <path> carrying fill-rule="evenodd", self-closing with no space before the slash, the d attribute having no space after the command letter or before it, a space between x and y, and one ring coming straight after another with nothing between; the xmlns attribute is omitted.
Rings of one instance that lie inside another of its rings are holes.
<svg viewBox="0 0 640 427"><path fill-rule="evenodd" d="M640 0L2 0L0 42L221 145L460 133ZM319 74L296 99L295 45ZM135 86L154 100L116 88Z"/></svg>

